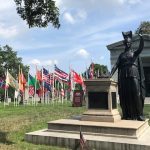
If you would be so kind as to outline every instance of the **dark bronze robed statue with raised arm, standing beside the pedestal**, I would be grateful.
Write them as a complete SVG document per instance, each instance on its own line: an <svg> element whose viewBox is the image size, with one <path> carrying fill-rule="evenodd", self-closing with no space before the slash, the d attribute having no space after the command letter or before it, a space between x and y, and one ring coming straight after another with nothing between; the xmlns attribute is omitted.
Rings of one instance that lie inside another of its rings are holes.
<svg viewBox="0 0 150 150"><path fill-rule="evenodd" d="M144 40L139 31L140 44L137 50L131 48L132 31L122 32L125 50L112 68L111 76L118 69L118 93L122 109L122 119L144 121L143 107L145 99L144 72L139 54Z"/></svg>

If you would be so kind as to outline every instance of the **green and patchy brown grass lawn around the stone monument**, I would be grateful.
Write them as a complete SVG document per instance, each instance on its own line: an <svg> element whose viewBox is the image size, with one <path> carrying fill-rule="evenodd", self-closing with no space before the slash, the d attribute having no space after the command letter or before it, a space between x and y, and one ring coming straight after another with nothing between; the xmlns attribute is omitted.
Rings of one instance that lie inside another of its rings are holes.
<svg viewBox="0 0 150 150"><path fill-rule="evenodd" d="M85 107L71 107L70 103L19 106L0 104L0 150L65 150L60 147L34 145L24 141L27 132L47 128L47 122L82 114ZM150 105L145 105L144 114L150 118ZM149 122L150 123L150 122Z"/></svg>

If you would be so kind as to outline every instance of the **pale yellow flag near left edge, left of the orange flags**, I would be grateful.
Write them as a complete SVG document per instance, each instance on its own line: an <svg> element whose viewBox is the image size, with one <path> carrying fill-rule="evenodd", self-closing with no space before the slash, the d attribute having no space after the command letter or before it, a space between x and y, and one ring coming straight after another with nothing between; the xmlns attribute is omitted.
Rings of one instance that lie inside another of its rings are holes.
<svg viewBox="0 0 150 150"><path fill-rule="evenodd" d="M14 79L14 77L7 71L6 75L6 86L10 85L11 87L18 90L19 85L18 82Z"/></svg>

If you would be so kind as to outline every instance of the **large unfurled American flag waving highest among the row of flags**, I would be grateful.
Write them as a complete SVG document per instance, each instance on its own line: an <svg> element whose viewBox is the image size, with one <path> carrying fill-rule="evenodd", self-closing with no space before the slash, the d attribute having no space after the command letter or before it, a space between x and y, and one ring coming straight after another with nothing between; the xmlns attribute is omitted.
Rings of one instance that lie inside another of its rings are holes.
<svg viewBox="0 0 150 150"><path fill-rule="evenodd" d="M61 80L65 80L68 77L68 74L64 71L62 71L61 69L59 69L56 65L55 67L55 76L58 77Z"/></svg>

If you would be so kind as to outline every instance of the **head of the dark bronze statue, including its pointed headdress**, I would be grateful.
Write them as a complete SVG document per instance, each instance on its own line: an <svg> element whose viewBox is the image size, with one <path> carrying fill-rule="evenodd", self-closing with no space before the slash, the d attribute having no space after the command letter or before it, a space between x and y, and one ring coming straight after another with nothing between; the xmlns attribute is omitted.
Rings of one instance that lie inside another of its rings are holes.
<svg viewBox="0 0 150 150"><path fill-rule="evenodd" d="M132 31L128 31L128 32L122 32L122 35L124 37L124 45L126 46L127 49L129 49L131 47L132 44Z"/></svg>

